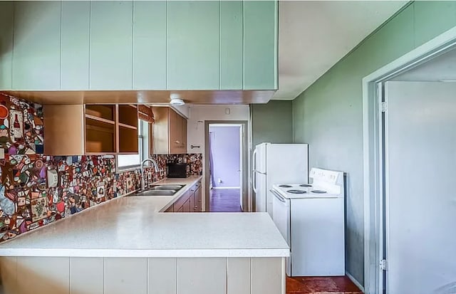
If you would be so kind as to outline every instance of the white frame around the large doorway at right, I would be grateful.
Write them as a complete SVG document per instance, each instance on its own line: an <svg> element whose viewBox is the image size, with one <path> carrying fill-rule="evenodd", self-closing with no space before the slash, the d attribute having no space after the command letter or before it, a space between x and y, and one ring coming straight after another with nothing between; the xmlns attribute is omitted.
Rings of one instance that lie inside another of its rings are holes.
<svg viewBox="0 0 456 294"><path fill-rule="evenodd" d="M364 291L383 290L383 82L456 48L456 26L363 78Z"/></svg>

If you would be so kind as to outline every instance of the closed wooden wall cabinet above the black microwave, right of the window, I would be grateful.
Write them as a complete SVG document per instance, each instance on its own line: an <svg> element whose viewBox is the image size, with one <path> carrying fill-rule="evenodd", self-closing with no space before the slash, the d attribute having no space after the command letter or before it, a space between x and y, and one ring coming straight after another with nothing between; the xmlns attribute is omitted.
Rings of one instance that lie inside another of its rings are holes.
<svg viewBox="0 0 456 294"><path fill-rule="evenodd" d="M187 153L187 119L170 107L153 108L152 154Z"/></svg>

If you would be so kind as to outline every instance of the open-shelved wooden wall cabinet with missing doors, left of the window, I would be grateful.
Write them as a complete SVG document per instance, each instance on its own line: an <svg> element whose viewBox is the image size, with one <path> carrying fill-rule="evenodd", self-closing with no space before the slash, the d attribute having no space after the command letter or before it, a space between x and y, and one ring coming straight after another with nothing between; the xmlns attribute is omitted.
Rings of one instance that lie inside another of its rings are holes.
<svg viewBox="0 0 456 294"><path fill-rule="evenodd" d="M44 153L138 153L135 105L44 105Z"/></svg>

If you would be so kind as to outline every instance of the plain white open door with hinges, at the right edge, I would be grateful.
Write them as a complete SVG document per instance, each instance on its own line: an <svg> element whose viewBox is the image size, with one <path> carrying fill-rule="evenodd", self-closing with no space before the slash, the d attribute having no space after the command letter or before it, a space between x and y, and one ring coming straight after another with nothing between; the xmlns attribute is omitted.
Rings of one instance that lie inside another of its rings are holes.
<svg viewBox="0 0 456 294"><path fill-rule="evenodd" d="M385 83L386 289L456 281L456 83Z"/></svg>

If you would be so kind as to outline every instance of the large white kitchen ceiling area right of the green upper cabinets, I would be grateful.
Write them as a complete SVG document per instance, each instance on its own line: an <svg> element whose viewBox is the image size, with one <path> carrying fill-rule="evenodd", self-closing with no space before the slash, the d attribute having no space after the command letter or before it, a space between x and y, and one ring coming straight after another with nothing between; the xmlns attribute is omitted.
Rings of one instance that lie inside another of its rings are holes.
<svg viewBox="0 0 456 294"><path fill-rule="evenodd" d="M279 1L279 90L293 100L408 1Z"/></svg>

